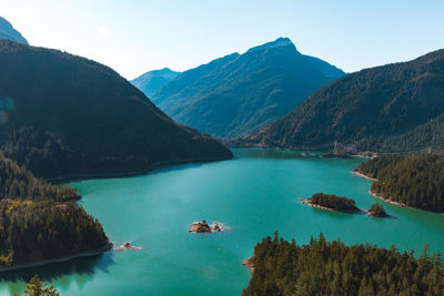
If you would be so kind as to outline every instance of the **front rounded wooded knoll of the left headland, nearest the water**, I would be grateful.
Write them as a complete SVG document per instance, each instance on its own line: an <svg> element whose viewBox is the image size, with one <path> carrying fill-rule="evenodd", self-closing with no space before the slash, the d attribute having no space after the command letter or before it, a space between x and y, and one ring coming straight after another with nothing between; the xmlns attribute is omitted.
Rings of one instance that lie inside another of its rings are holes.
<svg viewBox="0 0 444 296"><path fill-rule="evenodd" d="M8 212L9 203L0 203L0 254L12 253L14 264L75 255L107 245L100 223L73 203L47 200Z"/></svg>

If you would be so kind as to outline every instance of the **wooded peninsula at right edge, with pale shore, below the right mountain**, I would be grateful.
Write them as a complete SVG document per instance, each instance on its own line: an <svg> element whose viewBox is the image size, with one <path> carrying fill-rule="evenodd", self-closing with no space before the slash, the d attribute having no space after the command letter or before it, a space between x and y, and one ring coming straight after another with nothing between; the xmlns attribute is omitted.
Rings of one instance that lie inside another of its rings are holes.
<svg viewBox="0 0 444 296"><path fill-rule="evenodd" d="M372 192L393 202L444 212L444 156L384 155L362 163L357 172L377 178Z"/></svg>

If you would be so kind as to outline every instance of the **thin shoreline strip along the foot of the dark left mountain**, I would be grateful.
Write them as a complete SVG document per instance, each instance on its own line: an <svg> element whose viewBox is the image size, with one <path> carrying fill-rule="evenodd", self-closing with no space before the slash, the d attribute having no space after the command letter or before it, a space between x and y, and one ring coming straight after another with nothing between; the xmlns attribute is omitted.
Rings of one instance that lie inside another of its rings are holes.
<svg viewBox="0 0 444 296"><path fill-rule="evenodd" d="M72 175L61 175L56 177L47 177L44 178L48 182L54 183L63 183L69 181L80 181L80 180L90 180L90 178L114 178L114 177L132 177L145 175L150 172L153 172L158 169L163 169L167 166L180 165L180 164L192 164L192 163L206 163L206 162L221 162L221 161L230 161L234 159L218 159L218 157L208 157L208 159L190 159L190 160L176 160L176 161L162 161L152 164L149 169L131 171L125 173L99 173L99 174L72 174Z"/></svg>

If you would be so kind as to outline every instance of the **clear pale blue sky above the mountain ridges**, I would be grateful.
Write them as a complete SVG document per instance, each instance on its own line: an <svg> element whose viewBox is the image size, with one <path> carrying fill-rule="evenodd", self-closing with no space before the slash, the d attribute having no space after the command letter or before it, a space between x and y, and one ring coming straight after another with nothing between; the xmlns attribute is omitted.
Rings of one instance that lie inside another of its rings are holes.
<svg viewBox="0 0 444 296"><path fill-rule="evenodd" d="M346 72L444 48L443 0L1 0L0 16L31 44L127 79L183 71L278 37Z"/></svg>

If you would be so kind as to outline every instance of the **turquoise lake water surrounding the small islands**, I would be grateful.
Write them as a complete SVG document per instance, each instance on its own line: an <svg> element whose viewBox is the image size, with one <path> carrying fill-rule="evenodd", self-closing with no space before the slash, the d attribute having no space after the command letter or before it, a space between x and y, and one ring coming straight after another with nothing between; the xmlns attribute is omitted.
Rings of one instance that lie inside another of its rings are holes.
<svg viewBox="0 0 444 296"><path fill-rule="evenodd" d="M444 216L384 204L393 218L312 208L299 198L325 192L369 208L371 182L352 174L362 160L302 156L300 152L234 150L235 160L189 164L151 174L73 183L82 206L109 237L143 251L108 252L93 258L0 275L0 294L22 290L39 274L62 295L240 295L250 272L240 263L254 245L279 231L306 243L323 232L346 244L443 251ZM194 221L218 221L230 232L190 234Z"/></svg>

